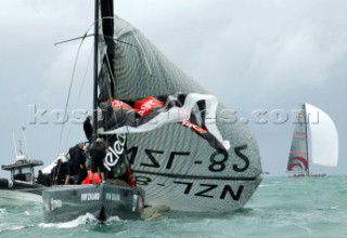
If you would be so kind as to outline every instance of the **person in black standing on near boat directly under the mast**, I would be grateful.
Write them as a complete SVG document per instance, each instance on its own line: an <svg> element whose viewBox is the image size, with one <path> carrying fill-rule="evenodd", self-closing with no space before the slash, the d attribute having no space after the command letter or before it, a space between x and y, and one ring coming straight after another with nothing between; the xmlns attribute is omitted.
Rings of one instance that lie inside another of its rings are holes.
<svg viewBox="0 0 347 238"><path fill-rule="evenodd" d="M91 177L90 183L92 183L94 173L99 172L101 174L102 183L105 182L105 167L104 167L104 158L106 156L106 146L102 138L97 138L94 145L92 145L89 149L89 155L91 157Z"/></svg>

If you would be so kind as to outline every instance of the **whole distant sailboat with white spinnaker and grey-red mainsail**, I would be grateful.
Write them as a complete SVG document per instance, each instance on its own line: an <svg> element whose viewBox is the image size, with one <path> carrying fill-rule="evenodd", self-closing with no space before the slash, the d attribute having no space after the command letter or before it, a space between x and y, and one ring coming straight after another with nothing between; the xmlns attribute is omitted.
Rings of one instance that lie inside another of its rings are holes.
<svg viewBox="0 0 347 238"><path fill-rule="evenodd" d="M290 176L323 176L324 173L312 173L310 164L337 166L335 124L327 114L307 103L298 106L296 119L286 172Z"/></svg>

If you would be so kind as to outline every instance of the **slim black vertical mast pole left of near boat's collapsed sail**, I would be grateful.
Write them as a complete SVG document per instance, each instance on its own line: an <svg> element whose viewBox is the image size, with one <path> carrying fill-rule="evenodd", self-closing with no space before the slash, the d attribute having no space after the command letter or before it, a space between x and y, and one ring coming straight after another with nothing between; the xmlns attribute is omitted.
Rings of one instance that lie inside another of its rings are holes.
<svg viewBox="0 0 347 238"><path fill-rule="evenodd" d="M98 44L99 44L99 0L94 5L94 74L93 74L93 127L91 143L94 143L98 136Z"/></svg>

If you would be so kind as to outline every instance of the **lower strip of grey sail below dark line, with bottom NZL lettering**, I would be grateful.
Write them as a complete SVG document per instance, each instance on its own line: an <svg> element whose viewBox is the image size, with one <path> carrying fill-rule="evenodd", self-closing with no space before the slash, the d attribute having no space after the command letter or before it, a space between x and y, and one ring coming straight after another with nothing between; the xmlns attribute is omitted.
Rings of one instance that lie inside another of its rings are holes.
<svg viewBox="0 0 347 238"><path fill-rule="evenodd" d="M140 176L140 175L139 175ZM150 206L169 206L177 211L229 212L242 208L261 178L234 181L177 178L144 174L138 177Z"/></svg>

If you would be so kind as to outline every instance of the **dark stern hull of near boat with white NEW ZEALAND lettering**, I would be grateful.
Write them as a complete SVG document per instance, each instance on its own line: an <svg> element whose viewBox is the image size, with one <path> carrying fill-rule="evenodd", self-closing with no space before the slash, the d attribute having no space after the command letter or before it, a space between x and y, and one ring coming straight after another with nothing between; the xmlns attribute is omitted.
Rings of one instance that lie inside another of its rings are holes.
<svg viewBox="0 0 347 238"><path fill-rule="evenodd" d="M91 213L99 221L111 216L137 220L143 210L143 197L139 188L127 185L67 185L54 186L43 191L44 221L68 222Z"/></svg>

